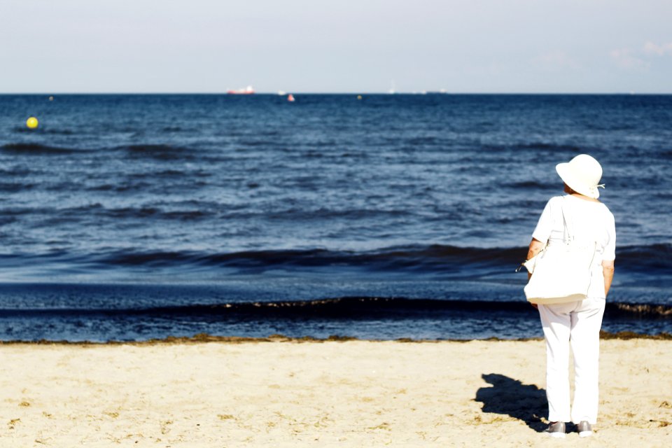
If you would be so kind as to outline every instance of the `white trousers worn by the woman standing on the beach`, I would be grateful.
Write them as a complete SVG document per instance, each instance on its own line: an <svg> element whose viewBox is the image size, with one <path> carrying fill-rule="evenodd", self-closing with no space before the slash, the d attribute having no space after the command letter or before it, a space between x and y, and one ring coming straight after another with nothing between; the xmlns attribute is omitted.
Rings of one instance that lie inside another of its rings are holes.
<svg viewBox="0 0 672 448"><path fill-rule="evenodd" d="M605 300L539 305L546 339L549 421L597 422L600 328ZM569 347L574 355L574 402L569 405Z"/></svg>

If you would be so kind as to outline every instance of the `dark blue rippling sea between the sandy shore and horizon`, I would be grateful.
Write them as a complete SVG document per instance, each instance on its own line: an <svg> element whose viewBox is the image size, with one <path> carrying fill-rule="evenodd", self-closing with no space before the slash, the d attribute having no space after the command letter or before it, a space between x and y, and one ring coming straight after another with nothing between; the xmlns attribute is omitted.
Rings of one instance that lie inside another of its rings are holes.
<svg viewBox="0 0 672 448"><path fill-rule="evenodd" d="M672 332L671 95L294 97L0 95L0 340L541 337L515 270L580 153L603 330Z"/></svg>

